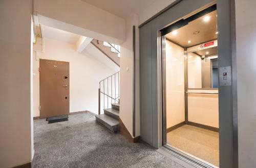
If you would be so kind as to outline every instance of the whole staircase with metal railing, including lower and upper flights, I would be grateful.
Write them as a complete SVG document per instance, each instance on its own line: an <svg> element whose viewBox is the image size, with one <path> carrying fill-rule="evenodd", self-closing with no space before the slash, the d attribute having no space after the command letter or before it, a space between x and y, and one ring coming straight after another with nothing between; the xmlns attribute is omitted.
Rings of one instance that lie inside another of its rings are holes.
<svg viewBox="0 0 256 168"><path fill-rule="evenodd" d="M93 39L91 43L120 66L120 45L96 39ZM99 111L98 115L95 115L96 122L113 133L119 131L119 76L120 71L99 82Z"/></svg>

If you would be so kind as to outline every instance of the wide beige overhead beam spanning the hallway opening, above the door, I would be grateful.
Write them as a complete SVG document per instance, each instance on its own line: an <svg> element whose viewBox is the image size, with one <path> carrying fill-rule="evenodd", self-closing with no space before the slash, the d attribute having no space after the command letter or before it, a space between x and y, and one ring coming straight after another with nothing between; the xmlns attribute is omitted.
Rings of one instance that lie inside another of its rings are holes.
<svg viewBox="0 0 256 168"><path fill-rule="evenodd" d="M86 37L120 44L125 20L81 0L34 0L39 23Z"/></svg>

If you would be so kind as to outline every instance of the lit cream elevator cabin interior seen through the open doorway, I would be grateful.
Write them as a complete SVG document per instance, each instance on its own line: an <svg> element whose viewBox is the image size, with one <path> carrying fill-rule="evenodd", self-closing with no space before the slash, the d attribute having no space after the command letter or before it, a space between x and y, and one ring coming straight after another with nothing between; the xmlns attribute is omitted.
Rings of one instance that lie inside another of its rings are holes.
<svg viewBox="0 0 256 168"><path fill-rule="evenodd" d="M217 11L164 38L166 143L219 166Z"/></svg>

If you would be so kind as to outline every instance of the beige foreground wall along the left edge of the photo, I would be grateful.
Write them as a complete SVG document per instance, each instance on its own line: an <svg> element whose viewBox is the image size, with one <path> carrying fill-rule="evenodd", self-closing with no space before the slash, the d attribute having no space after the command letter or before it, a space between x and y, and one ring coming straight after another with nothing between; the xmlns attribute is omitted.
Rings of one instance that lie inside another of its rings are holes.
<svg viewBox="0 0 256 168"><path fill-rule="evenodd" d="M0 167L31 162L32 0L0 1Z"/></svg>

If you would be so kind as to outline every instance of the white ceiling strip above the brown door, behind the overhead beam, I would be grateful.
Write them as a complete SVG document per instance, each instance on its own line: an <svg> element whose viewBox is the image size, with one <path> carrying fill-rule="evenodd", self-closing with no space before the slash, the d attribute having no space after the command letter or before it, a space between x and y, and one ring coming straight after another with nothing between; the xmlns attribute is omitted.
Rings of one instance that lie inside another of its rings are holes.
<svg viewBox="0 0 256 168"><path fill-rule="evenodd" d="M80 37L77 34L73 34L70 32L63 31L63 30L55 29L55 28L48 27L45 25L41 25L41 28L42 28L42 35L44 37L58 40L58 41L75 44Z"/></svg>

